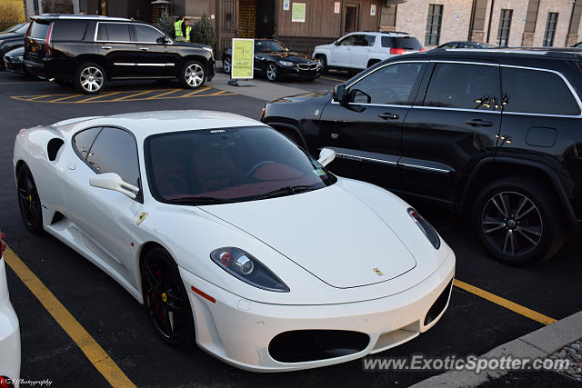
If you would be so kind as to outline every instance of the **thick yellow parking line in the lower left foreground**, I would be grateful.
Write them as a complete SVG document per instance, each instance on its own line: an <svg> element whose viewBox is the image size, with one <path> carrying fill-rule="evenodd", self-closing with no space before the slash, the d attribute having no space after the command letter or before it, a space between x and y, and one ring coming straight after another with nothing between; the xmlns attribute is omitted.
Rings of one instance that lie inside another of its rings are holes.
<svg viewBox="0 0 582 388"><path fill-rule="evenodd" d="M20 280L35 295L36 299L45 306L46 311L55 318L65 332L81 349L89 361L105 377L107 383L114 387L135 387L135 384L123 373L119 366L109 357L99 343L85 328L78 323L65 306L56 299L55 295L46 288L38 277L23 263L10 247L5 250L5 261L16 273Z"/></svg>

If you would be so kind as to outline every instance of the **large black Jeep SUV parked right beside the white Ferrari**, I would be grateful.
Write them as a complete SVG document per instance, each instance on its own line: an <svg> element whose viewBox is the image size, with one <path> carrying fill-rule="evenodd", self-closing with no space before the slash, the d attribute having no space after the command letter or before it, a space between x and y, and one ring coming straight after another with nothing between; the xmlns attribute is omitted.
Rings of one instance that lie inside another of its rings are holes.
<svg viewBox="0 0 582 388"><path fill-rule="evenodd" d="M582 52L402 55L327 94L266 104L262 121L335 173L471 215L498 261L557 253L582 219Z"/></svg>

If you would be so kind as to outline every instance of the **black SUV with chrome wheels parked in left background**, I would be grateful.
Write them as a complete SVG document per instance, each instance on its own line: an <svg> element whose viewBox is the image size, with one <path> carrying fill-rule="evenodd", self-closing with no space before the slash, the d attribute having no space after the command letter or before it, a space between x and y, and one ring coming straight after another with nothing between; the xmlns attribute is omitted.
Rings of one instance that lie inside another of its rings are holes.
<svg viewBox="0 0 582 388"><path fill-rule="evenodd" d="M32 73L57 83L72 80L85 94L115 79L178 78L197 88L215 75L211 47L175 42L154 25L105 16L32 17L24 59Z"/></svg>

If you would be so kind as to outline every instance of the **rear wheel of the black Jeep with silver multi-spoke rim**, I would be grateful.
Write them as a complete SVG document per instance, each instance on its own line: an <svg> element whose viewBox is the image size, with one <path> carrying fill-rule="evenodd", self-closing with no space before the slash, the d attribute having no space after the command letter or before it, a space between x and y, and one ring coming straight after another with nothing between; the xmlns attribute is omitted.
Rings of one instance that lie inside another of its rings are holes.
<svg viewBox="0 0 582 388"><path fill-rule="evenodd" d="M510 177L488 184L477 196L472 223L477 238L500 263L540 263L564 244L559 202L534 179Z"/></svg>

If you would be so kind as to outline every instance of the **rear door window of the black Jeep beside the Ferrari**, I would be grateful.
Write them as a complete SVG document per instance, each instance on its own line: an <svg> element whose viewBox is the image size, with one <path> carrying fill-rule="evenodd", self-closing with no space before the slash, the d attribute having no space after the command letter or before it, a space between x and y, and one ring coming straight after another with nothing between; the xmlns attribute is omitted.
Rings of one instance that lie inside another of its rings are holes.
<svg viewBox="0 0 582 388"><path fill-rule="evenodd" d="M425 106L490 110L498 83L497 66L437 64L426 89Z"/></svg>

